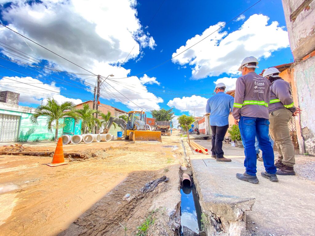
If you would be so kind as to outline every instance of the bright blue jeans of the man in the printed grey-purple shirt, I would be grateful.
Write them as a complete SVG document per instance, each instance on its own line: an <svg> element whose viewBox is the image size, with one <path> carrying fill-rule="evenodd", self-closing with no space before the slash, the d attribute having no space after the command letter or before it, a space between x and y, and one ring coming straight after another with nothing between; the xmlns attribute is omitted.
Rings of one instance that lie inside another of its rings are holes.
<svg viewBox="0 0 315 236"><path fill-rule="evenodd" d="M239 119L239 130L244 141L245 160L244 166L246 173L252 176L256 175L256 150L255 137L257 137L259 146L263 153L265 170L269 174L275 174L277 169L274 166L274 155L271 143L269 141L269 121L263 118L241 116Z"/></svg>

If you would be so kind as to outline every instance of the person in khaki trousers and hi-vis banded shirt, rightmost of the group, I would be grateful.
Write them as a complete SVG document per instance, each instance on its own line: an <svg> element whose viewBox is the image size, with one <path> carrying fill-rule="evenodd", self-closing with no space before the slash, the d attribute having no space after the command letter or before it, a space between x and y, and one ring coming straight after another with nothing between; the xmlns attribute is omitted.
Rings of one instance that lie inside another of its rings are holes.
<svg viewBox="0 0 315 236"><path fill-rule="evenodd" d="M271 82L269 110L269 132L278 147L278 160L275 164L279 168L277 175L295 175L295 153L290 138L288 122L292 116L301 113L294 106L290 84L284 81L277 68L268 68L263 76Z"/></svg>

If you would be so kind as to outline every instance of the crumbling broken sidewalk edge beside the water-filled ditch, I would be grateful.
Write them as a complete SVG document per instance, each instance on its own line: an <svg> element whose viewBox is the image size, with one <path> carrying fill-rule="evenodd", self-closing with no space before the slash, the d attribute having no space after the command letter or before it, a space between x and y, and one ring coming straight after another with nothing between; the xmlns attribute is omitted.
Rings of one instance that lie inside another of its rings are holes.
<svg viewBox="0 0 315 236"><path fill-rule="evenodd" d="M204 216L207 235L239 236L246 228L245 211L251 211L255 198L241 198L201 189L198 170L191 163L192 175Z"/></svg>

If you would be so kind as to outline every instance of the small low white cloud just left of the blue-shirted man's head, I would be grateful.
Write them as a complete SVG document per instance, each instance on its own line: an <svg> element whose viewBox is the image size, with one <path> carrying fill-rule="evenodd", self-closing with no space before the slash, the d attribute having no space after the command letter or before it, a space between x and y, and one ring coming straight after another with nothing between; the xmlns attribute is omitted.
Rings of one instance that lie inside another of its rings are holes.
<svg viewBox="0 0 315 236"><path fill-rule="evenodd" d="M188 111L189 115L203 116L206 114L207 100L208 98L192 95L191 97L174 98L169 100L167 105L180 111Z"/></svg>

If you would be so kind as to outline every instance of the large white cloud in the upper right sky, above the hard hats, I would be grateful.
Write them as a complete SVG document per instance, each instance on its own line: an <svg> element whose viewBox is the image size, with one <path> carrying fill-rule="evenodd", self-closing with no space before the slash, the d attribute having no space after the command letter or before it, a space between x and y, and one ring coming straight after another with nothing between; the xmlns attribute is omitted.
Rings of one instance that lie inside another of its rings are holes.
<svg viewBox="0 0 315 236"><path fill-rule="evenodd" d="M268 16L254 14L231 33L223 29L216 31L225 24L219 22L201 35L188 39L186 45L172 54L172 57L178 55L172 61L180 65L191 65L192 79L220 76L223 73L238 74L238 67L245 57L268 58L272 52L289 47L288 32L277 21L270 25L268 21ZM216 32L213 33L214 31ZM188 49L211 33L211 36Z"/></svg>

